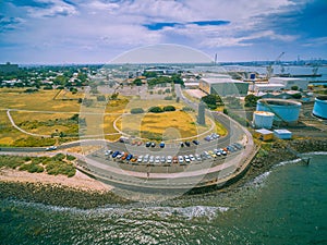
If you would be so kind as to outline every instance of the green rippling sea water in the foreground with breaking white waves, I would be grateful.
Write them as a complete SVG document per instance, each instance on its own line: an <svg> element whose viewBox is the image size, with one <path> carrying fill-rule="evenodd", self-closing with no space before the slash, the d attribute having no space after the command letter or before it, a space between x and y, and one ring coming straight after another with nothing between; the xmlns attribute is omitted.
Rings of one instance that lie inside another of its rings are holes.
<svg viewBox="0 0 327 245"><path fill-rule="evenodd" d="M80 210L0 201L0 244L327 244L327 155L230 193Z"/></svg>

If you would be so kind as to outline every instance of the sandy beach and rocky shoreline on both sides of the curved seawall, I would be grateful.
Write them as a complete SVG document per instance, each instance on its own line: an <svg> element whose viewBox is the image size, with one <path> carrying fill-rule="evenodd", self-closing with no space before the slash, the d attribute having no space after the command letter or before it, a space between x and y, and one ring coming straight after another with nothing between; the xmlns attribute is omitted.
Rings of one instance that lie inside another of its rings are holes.
<svg viewBox="0 0 327 245"><path fill-rule="evenodd" d="M287 147L291 147L300 154L327 151L327 142L320 139L275 142L268 151L262 150L252 159L249 170L238 181L222 188L208 187L203 192L185 195L235 192L250 180L269 171L275 164L296 159L296 156L290 154ZM109 204L133 203L116 195L112 186L94 180L78 170L76 170L75 176L65 177L2 169L0 170L0 199L32 200L53 206L97 208Z"/></svg>

